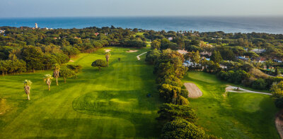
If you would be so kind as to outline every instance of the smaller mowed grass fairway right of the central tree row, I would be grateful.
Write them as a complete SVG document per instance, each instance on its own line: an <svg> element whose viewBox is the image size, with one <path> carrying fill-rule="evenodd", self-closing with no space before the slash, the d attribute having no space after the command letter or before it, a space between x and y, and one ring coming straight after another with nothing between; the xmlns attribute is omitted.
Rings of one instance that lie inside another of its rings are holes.
<svg viewBox="0 0 283 139"><path fill-rule="evenodd" d="M279 138L275 128L275 107L268 95L253 93L225 94L226 84L215 75L190 71L183 82L195 83L203 92L189 99L197 111L197 125L221 138Z"/></svg>

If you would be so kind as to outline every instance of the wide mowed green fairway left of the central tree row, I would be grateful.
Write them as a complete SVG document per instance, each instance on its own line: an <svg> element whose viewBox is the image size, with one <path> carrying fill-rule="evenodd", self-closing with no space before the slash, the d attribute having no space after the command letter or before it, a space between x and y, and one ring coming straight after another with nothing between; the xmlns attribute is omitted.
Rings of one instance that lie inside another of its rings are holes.
<svg viewBox="0 0 283 139"><path fill-rule="evenodd" d="M81 54L74 63L83 70L65 84L55 80L51 91L43 76L52 71L0 77L0 98L6 113L0 115L0 138L158 138L158 107L153 67L137 61L139 52L112 49L108 68L91 67L105 59L104 50ZM121 58L119 62L117 59ZM30 101L26 100L23 80L32 80ZM146 97L151 93L153 97Z"/></svg>

